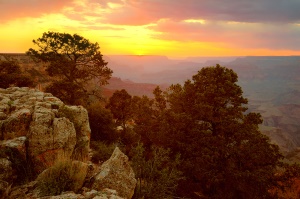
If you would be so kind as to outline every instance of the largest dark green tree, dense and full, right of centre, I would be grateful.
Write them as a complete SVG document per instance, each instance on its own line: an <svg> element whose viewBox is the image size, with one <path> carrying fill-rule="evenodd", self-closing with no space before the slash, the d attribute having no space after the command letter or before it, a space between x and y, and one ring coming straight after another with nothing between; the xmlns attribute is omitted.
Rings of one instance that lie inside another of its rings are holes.
<svg viewBox="0 0 300 199"><path fill-rule="evenodd" d="M183 86L170 87L161 112L162 145L180 153L188 197L271 198L281 166L279 148L261 134L259 114L246 113L247 100L231 69L201 69ZM163 99L163 98L159 98Z"/></svg>

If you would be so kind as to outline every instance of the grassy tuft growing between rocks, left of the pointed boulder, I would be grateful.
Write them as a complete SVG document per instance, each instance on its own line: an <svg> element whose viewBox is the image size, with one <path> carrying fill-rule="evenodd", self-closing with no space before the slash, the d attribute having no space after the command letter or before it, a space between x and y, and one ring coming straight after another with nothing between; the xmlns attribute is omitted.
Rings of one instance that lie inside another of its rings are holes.
<svg viewBox="0 0 300 199"><path fill-rule="evenodd" d="M84 183L87 169L87 164L83 162L59 159L38 176L39 196L59 195L64 191L78 192Z"/></svg>

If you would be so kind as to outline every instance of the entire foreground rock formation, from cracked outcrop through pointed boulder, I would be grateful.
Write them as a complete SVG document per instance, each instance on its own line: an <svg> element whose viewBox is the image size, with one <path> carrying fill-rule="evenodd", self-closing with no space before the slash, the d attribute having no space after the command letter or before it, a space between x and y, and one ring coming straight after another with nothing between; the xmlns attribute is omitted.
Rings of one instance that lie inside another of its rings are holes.
<svg viewBox="0 0 300 199"><path fill-rule="evenodd" d="M41 198L41 179L63 159L80 171L72 177L76 186L46 198L130 199L136 179L128 157L116 148L93 173L99 165L89 161L89 143L88 113L82 106L65 105L37 89L0 88L0 198ZM24 180L31 175L28 167L34 178Z"/></svg>

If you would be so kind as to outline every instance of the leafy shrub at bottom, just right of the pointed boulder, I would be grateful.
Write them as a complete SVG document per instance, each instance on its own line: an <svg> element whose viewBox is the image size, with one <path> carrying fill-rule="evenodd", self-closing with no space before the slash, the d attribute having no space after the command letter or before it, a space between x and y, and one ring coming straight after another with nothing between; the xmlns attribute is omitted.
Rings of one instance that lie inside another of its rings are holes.
<svg viewBox="0 0 300 199"><path fill-rule="evenodd" d="M133 199L174 198L174 194L182 172L177 167L180 157L170 158L170 150L152 147L150 153L145 153L142 144L131 151L132 167L137 179ZM149 158L145 158L149 156Z"/></svg>

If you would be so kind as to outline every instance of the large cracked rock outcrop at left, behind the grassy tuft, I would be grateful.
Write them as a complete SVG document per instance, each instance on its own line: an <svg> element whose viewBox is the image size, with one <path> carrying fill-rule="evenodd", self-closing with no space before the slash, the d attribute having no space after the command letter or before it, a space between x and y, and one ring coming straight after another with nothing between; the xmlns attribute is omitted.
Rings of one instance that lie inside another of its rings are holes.
<svg viewBox="0 0 300 199"><path fill-rule="evenodd" d="M0 150L17 149L38 173L61 156L88 160L86 109L67 106L50 93L26 87L0 89L0 132Z"/></svg>

